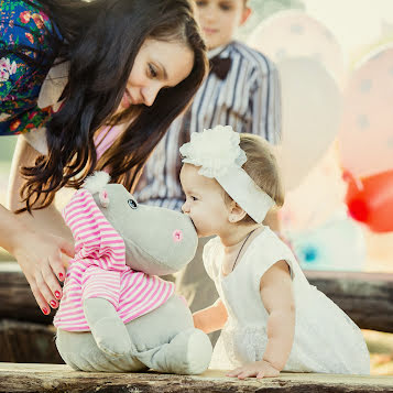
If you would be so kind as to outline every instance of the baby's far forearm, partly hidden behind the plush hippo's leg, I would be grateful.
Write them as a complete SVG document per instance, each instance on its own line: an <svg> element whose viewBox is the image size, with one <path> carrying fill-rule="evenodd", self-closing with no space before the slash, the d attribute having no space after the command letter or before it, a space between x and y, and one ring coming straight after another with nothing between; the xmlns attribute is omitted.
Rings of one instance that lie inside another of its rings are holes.
<svg viewBox="0 0 393 393"><path fill-rule="evenodd" d="M196 328L209 334L222 329L228 319L228 314L221 299L218 299L210 307L194 313L193 318Z"/></svg>

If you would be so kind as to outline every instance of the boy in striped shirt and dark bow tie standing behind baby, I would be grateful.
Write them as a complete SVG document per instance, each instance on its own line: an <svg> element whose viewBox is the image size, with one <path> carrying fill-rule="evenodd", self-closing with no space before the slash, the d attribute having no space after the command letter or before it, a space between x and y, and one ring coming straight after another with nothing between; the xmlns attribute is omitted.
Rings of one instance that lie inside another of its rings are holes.
<svg viewBox="0 0 393 393"><path fill-rule="evenodd" d="M211 69L188 111L172 123L159 143L134 193L140 203L174 210L181 210L184 203L178 181L182 168L178 148L189 141L192 132L225 123L272 143L279 142L281 133L280 83L275 66L263 54L234 41L238 28L251 13L248 1L198 0L196 6ZM279 230L276 216L270 215L269 226ZM199 240L195 259L176 274L176 287L187 298L192 310L206 307L217 298L201 263L205 243L206 239Z"/></svg>

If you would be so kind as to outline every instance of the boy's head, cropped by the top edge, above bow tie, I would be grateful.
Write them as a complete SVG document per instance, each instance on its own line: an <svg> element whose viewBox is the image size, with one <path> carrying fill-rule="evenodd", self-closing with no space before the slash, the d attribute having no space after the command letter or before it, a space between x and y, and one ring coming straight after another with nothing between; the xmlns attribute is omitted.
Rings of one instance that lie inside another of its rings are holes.
<svg viewBox="0 0 393 393"><path fill-rule="evenodd" d="M248 0L196 0L197 13L208 50L227 45L249 18Z"/></svg>

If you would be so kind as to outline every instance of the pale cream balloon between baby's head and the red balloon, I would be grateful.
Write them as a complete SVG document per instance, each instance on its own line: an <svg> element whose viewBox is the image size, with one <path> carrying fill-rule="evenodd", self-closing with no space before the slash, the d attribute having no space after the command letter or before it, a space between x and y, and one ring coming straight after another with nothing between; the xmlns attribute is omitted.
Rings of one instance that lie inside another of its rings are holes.
<svg viewBox="0 0 393 393"><path fill-rule="evenodd" d="M282 230L308 231L331 219L338 210L345 214L346 192L335 142L302 184L285 195L285 204L279 210Z"/></svg>

